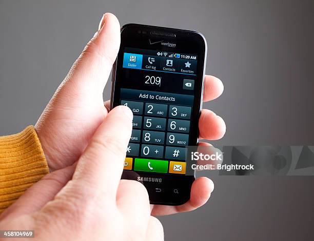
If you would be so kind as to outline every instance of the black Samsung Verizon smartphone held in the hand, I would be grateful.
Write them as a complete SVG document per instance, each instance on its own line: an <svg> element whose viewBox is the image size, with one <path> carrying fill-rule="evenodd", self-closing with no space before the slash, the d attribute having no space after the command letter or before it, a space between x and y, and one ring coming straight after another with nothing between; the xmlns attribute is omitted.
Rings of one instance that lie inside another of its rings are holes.
<svg viewBox="0 0 314 241"><path fill-rule="evenodd" d="M113 66L111 108L133 112L122 179L142 182L151 204L190 198L194 170L186 146L198 144L206 40L195 31L128 24Z"/></svg>

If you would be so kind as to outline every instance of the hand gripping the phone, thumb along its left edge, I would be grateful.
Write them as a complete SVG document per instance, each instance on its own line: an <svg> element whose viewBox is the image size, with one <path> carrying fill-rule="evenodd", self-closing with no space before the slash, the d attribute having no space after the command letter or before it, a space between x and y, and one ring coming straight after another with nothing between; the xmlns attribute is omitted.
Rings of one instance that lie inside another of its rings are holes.
<svg viewBox="0 0 314 241"><path fill-rule="evenodd" d="M108 114L103 90L120 45L119 21L105 14L99 31L73 64L35 125L51 171L71 166L83 153L93 133ZM204 101L223 92L222 82L205 76ZM203 109L199 122L200 138L220 139L225 133L221 117ZM202 143L202 145L208 145ZM53 176L55 179L62 177ZM207 178L195 180L190 201L181 206L152 206L154 215L190 211L205 204L213 190ZM38 197L40 198L40 197Z"/></svg>

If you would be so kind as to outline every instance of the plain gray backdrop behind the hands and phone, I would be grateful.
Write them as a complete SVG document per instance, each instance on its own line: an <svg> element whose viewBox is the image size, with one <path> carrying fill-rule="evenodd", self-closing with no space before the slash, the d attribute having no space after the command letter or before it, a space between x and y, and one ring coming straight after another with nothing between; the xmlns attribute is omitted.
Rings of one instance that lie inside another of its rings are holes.
<svg viewBox="0 0 314 241"><path fill-rule="evenodd" d="M104 12L121 25L205 35L206 73L225 86L204 105L227 124L225 137L212 143L314 144L314 1L305 0L0 0L1 135L36 122ZM313 239L312 177L213 181L204 207L160 218L166 240Z"/></svg>

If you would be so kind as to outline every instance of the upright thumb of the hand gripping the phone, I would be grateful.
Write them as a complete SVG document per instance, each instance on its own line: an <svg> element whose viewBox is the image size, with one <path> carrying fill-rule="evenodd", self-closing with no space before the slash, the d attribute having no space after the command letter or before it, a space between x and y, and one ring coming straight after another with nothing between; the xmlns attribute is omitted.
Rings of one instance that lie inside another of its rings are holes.
<svg viewBox="0 0 314 241"><path fill-rule="evenodd" d="M76 59L57 92L72 97L86 97L88 94L102 97L119 47L119 20L111 13L105 13L99 30Z"/></svg>

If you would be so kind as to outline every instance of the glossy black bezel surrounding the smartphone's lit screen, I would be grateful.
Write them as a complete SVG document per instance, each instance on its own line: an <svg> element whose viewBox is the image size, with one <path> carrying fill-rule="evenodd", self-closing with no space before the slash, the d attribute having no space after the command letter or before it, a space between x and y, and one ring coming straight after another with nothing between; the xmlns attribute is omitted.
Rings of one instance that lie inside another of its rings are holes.
<svg viewBox="0 0 314 241"><path fill-rule="evenodd" d="M164 33L161 36L152 36L151 32ZM166 34L165 34L166 33ZM169 35L168 35L168 34ZM175 37L173 37L175 34ZM151 45L149 39L154 41L164 40L175 42L175 48ZM207 45L204 36L195 31L171 29L164 27L155 27L138 24L127 24L121 29L121 45L117 55L117 59L113 65L112 71L112 92L111 92L111 108L119 105L121 84L119 81L122 71L124 48L138 48L148 50L160 50L169 52L178 52L186 54L198 55L197 76L194 83L194 104L191 119L189 145L198 144L199 136L199 118L201 115L204 75L206 64ZM162 174L162 173L145 173L135 171L124 171L122 178L137 180L139 177L162 178L161 183L144 182L143 184L148 190L150 203L161 205L181 205L190 199L190 189L194 176L181 176L180 174ZM179 193L173 193L172 190L178 187ZM155 188L161 188L163 192L155 192Z"/></svg>

